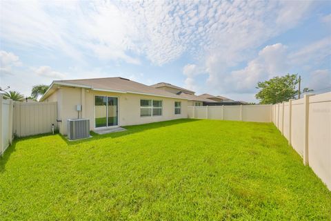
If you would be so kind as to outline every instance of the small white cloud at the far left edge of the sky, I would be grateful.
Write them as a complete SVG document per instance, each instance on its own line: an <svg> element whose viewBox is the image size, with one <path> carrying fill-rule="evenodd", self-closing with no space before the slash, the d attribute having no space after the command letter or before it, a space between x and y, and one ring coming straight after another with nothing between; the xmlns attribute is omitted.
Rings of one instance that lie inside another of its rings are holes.
<svg viewBox="0 0 331 221"><path fill-rule="evenodd" d="M12 52L0 50L0 74L12 75L12 67L14 66L21 66L19 57Z"/></svg>

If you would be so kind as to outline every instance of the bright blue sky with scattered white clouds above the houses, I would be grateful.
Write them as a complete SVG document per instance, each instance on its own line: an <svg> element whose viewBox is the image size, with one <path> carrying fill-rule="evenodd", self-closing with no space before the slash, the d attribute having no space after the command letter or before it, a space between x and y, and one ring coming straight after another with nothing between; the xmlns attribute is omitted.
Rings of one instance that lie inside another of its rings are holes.
<svg viewBox="0 0 331 221"><path fill-rule="evenodd" d="M331 90L330 1L0 1L0 86L55 79L165 81L256 102L299 73Z"/></svg>

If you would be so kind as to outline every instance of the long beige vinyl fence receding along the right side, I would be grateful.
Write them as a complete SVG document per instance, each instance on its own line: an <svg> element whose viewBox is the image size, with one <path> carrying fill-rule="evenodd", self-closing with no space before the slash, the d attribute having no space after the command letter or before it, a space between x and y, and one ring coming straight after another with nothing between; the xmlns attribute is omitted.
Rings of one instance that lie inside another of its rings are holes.
<svg viewBox="0 0 331 221"><path fill-rule="evenodd" d="M331 92L274 104L272 121L331 190Z"/></svg>

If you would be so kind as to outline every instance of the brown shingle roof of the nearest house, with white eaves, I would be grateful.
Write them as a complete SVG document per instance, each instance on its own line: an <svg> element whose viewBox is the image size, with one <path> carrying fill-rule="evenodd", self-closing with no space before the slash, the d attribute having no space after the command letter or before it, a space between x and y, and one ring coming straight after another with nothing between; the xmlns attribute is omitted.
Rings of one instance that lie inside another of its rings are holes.
<svg viewBox="0 0 331 221"><path fill-rule="evenodd" d="M123 77L105 77L94 79L72 79L53 81L50 88L46 91L45 95L41 97L40 101L46 99L51 95L57 87L55 86L70 86L77 88L89 88L91 90L108 91L114 93L134 93L141 95L152 95L158 97L172 97L177 99L185 99L179 95L174 95L165 90L159 90L145 84L140 84L136 81L131 81Z"/></svg>

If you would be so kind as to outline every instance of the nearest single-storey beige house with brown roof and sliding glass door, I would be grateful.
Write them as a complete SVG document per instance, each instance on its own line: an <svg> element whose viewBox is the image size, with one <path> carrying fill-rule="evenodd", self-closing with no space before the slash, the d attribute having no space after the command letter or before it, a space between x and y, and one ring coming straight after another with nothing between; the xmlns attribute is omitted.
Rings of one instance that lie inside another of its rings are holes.
<svg viewBox="0 0 331 221"><path fill-rule="evenodd" d="M91 131L188 117L187 98L122 77L53 81L40 102L57 102L63 135L77 117L90 119Z"/></svg>

